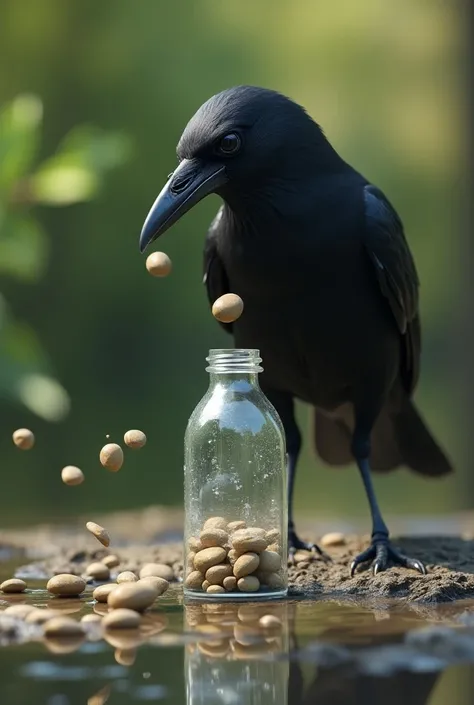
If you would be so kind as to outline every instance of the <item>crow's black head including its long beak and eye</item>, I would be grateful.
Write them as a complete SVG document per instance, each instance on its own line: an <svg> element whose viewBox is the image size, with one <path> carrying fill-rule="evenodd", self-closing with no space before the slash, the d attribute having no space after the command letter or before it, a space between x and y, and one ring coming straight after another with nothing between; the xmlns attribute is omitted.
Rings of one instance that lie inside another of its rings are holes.
<svg viewBox="0 0 474 705"><path fill-rule="evenodd" d="M202 105L177 147L179 166L153 204L140 250L210 193L226 200L256 192L268 180L314 169L328 145L305 110L275 91L237 86Z"/></svg>

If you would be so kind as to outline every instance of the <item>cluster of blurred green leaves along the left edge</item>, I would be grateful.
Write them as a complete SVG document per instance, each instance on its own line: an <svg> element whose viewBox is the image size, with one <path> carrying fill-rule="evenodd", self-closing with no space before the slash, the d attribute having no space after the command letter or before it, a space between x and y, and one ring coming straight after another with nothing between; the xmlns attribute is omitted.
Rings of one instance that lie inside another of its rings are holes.
<svg viewBox="0 0 474 705"><path fill-rule="evenodd" d="M79 125L35 166L42 117L34 95L20 95L0 111L0 274L30 284L44 276L50 253L34 206L92 200L107 171L129 158L131 146L121 133ZM62 420L71 406L33 328L13 316L1 294L0 397L48 421Z"/></svg>

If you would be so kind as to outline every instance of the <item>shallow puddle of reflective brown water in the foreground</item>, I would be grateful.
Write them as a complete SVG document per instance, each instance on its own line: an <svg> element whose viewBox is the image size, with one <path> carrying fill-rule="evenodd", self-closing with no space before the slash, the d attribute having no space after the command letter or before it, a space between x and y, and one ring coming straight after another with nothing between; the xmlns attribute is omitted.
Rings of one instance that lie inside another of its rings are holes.
<svg viewBox="0 0 474 705"><path fill-rule="evenodd" d="M2 575L13 573L3 568ZM106 611L92 600L92 587L81 599L58 599L44 581L29 584L26 594L2 596L0 608L47 605L75 618ZM24 627L3 631L1 705L474 702L473 600L183 605L174 585L158 604L140 631L106 639L96 626L69 640L46 641ZM281 625L260 626L269 614Z"/></svg>

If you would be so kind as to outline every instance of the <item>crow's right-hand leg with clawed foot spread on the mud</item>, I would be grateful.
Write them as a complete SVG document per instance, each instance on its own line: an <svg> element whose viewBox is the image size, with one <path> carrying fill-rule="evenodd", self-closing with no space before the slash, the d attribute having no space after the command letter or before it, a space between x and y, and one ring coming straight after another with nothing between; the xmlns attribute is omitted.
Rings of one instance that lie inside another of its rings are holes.
<svg viewBox="0 0 474 705"><path fill-rule="evenodd" d="M370 431L364 431L356 426L352 441L352 452L357 462L359 472L364 483L367 499L369 500L370 513L372 515L372 540L368 549L356 556L351 564L351 575L361 563L372 562L374 575L388 567L389 562L413 568L425 574L426 568L423 563L416 558L409 558L397 551L391 544L389 532L385 524L380 508L375 496L374 486L369 464L370 457Z"/></svg>

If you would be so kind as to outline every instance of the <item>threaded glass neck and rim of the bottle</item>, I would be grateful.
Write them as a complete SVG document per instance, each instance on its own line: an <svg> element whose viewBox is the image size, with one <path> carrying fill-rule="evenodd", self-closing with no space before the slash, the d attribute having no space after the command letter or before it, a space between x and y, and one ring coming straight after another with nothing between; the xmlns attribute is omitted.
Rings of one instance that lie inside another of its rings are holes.
<svg viewBox="0 0 474 705"><path fill-rule="evenodd" d="M262 358L259 350L246 348L229 348L209 350L206 358L209 365L210 386L233 386L236 383L258 386L258 373Z"/></svg>

